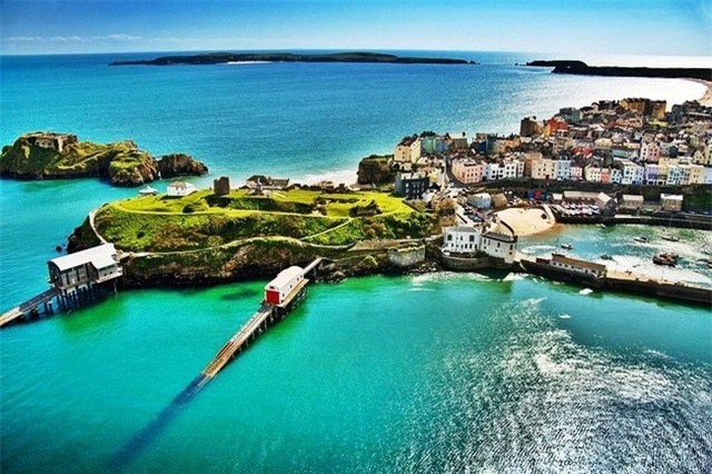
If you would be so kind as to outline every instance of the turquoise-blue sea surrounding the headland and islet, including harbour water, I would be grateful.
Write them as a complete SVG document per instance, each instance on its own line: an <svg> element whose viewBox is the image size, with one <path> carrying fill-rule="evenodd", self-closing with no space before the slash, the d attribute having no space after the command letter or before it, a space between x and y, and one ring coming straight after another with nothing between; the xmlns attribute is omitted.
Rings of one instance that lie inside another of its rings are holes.
<svg viewBox="0 0 712 474"><path fill-rule="evenodd" d="M702 95L682 80L576 78L538 56L453 53L474 67L219 65L109 68L141 55L0 57L0 141L52 129L186 151L211 175L346 176L400 136L518 129L528 115L626 96ZM145 55L155 56L152 53ZM640 59L640 58L639 58ZM644 59L644 58L643 58ZM160 188L162 184L159 184ZM87 213L135 189L0 180L0 309L44 286ZM521 249L642 273L650 231L565 226ZM681 267L711 233L683 231ZM0 470L106 472L256 308L265 282L125 292L0 332ZM585 292L584 292L585 293ZM121 472L710 472L709 308L501 273L316 285Z"/></svg>

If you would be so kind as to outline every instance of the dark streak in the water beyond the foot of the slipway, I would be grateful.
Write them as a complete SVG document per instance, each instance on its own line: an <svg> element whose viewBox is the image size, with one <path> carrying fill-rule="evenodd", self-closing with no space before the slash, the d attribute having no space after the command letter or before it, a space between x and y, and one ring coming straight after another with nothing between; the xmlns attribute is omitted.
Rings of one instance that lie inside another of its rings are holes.
<svg viewBox="0 0 712 474"><path fill-rule="evenodd" d="M144 429L134 435L109 460L109 467L118 471L127 466L136 456L138 456L146 446L154 442L158 435L168 426L182 407L185 407L207 384L209 378L204 374L198 375L188 384L168 406L148 424Z"/></svg>

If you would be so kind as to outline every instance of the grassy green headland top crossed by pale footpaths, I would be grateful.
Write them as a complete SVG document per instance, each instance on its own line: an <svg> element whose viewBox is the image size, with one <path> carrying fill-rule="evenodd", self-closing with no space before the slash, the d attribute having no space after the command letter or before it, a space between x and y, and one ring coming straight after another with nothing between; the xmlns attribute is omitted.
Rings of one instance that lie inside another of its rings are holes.
<svg viewBox="0 0 712 474"><path fill-rule="evenodd" d="M365 208L372 215L355 211ZM432 229L429 216L414 211L400 198L377 191L308 189L275 191L269 197L249 195L247 189L227 196L201 190L181 198L136 197L105 206L96 224L108 240L134 251L216 248L270 236L348 245L373 238L418 238Z"/></svg>

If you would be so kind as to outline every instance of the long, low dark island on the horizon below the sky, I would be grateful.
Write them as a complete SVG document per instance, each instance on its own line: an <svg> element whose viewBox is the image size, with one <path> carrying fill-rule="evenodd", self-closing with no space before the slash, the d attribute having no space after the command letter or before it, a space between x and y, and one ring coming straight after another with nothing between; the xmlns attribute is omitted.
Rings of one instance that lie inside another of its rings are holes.
<svg viewBox="0 0 712 474"><path fill-rule="evenodd" d="M161 56L155 59L113 61L109 66L220 65L228 62L383 62L397 65L475 65L475 61L452 58L399 57L380 52L335 52L307 55L293 52L208 52L189 56Z"/></svg>

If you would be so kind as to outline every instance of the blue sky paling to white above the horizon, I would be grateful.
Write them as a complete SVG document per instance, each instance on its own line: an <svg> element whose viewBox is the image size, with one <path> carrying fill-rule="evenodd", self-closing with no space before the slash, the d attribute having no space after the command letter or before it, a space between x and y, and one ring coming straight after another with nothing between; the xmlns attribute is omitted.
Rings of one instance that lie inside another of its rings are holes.
<svg viewBox="0 0 712 474"><path fill-rule="evenodd" d="M0 0L0 53L386 49L712 56L712 0Z"/></svg>

